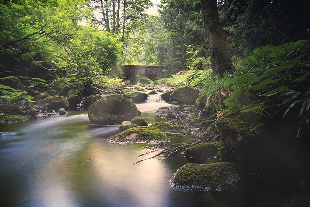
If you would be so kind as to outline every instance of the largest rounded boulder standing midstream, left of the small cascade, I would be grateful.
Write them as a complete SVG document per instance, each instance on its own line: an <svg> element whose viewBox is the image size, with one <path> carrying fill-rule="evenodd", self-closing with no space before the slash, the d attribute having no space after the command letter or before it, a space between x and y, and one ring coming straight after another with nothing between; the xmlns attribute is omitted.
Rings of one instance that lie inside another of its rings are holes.
<svg viewBox="0 0 310 207"><path fill-rule="evenodd" d="M118 94L105 96L88 108L90 123L97 125L118 125L140 115L132 101Z"/></svg>

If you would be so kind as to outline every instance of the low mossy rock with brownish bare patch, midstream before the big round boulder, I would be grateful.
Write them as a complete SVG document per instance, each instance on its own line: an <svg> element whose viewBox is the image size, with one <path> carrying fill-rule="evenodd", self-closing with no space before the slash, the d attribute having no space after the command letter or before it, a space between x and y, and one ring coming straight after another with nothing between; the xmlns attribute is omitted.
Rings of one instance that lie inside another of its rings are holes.
<svg viewBox="0 0 310 207"><path fill-rule="evenodd" d="M108 140L109 143L169 142L169 138L158 128L138 126L127 129Z"/></svg>

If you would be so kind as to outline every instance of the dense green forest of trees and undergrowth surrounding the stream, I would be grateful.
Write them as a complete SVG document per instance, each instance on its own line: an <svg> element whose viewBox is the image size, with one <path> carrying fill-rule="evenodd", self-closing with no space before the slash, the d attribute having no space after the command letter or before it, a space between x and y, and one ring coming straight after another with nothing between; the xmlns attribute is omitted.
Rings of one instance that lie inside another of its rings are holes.
<svg viewBox="0 0 310 207"><path fill-rule="evenodd" d="M29 116L43 99L61 95L63 90L69 103L81 93L78 102L73 102L77 106L90 91L110 92L133 84L188 86L199 93L192 110L204 114L200 117L206 130L202 140L212 133L233 137L234 131L238 138L223 138L235 156L233 161L246 169L259 169L262 175L269 165L253 166L248 159L268 160L268 153L260 157L269 149L263 143L279 144L283 148L279 160L289 163L287 155L302 163L279 178L284 182L298 171L288 181L295 187L310 174L309 166L304 168L310 158L310 16L306 2L154 3L1 0L0 117ZM151 14L154 6L158 11ZM130 82L125 80L123 65L162 65L163 76L154 81L137 77ZM240 122L234 121L236 117ZM268 126L275 126L272 133L267 134ZM239 132L251 139L263 137L263 143L239 143ZM253 146L262 148L248 152ZM275 180L278 175L268 176ZM309 202L307 179L305 200ZM292 207L298 202L295 199Z"/></svg>

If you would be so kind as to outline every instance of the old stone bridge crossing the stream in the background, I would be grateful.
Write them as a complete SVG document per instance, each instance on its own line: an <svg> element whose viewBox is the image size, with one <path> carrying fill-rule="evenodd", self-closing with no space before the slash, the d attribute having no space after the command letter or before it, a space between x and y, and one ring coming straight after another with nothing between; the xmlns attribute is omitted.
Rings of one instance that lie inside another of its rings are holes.
<svg viewBox="0 0 310 207"><path fill-rule="evenodd" d="M122 71L125 75L125 80L133 80L136 76L145 76L151 80L156 80L163 75L163 66L150 65L124 65Z"/></svg>

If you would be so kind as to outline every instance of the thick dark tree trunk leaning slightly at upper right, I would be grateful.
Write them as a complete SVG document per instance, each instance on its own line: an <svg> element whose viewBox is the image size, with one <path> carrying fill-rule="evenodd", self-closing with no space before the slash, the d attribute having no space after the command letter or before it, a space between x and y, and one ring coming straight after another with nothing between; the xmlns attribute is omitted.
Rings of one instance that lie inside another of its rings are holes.
<svg viewBox="0 0 310 207"><path fill-rule="evenodd" d="M225 72L235 70L226 35L219 20L217 0L202 0L202 13L209 45L212 69L223 76Z"/></svg>

